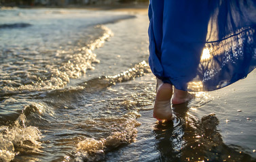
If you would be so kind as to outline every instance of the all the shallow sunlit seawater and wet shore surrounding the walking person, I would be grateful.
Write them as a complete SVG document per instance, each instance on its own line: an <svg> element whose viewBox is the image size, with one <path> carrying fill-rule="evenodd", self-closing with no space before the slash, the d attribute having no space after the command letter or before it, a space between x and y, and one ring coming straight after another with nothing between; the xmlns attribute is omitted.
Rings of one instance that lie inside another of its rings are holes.
<svg viewBox="0 0 256 162"><path fill-rule="evenodd" d="M255 72L152 116L147 16L0 10L0 161L255 161Z"/></svg>

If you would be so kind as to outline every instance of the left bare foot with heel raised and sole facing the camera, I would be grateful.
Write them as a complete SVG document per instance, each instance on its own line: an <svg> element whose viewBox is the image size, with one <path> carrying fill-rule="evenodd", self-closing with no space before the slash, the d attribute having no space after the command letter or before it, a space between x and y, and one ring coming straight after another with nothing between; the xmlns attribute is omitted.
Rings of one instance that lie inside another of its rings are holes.
<svg viewBox="0 0 256 162"><path fill-rule="evenodd" d="M153 117L158 120L172 119L172 109L170 108L171 97L172 85L168 83L161 84L156 93L156 100L153 106Z"/></svg>

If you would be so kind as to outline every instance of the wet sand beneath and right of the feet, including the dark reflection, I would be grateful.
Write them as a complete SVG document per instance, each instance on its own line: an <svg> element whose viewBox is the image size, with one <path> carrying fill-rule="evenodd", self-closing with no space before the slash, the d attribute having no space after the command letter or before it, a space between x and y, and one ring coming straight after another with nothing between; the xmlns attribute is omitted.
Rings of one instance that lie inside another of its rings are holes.
<svg viewBox="0 0 256 162"><path fill-rule="evenodd" d="M138 78L153 86L154 76ZM136 142L107 154L107 161L255 161L256 70L247 78L172 106L173 122L159 124L153 105L140 109ZM125 155L124 153L129 153Z"/></svg>

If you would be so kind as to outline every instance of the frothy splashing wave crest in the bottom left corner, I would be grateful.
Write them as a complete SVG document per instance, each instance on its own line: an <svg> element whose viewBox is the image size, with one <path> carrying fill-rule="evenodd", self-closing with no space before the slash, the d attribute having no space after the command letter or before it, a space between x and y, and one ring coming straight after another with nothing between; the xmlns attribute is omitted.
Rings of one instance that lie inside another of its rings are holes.
<svg viewBox="0 0 256 162"><path fill-rule="evenodd" d="M0 126L0 161L12 161L20 154L40 155L43 152L39 142L41 132L36 127L20 125L25 122L26 117L20 115L13 126Z"/></svg>

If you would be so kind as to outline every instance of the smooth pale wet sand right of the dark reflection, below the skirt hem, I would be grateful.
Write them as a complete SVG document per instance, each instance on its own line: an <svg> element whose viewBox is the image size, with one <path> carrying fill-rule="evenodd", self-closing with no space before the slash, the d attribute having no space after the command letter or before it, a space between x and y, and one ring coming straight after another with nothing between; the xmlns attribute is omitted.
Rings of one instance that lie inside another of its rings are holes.
<svg viewBox="0 0 256 162"><path fill-rule="evenodd" d="M256 157L256 70L247 78L208 94L213 97L213 102L202 109L217 114L220 120L219 130L225 144L238 148L242 146Z"/></svg>

